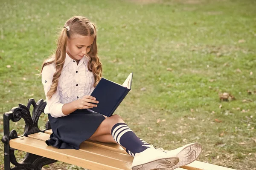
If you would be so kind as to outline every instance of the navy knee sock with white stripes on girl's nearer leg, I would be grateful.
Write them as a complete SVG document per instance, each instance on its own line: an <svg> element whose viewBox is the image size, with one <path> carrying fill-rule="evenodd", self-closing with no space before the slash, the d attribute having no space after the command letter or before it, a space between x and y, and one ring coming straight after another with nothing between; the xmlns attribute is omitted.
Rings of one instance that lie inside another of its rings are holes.
<svg viewBox="0 0 256 170"><path fill-rule="evenodd" d="M126 152L130 152L131 156L148 148L125 123L115 124L112 127L111 135L119 145L126 148Z"/></svg>

